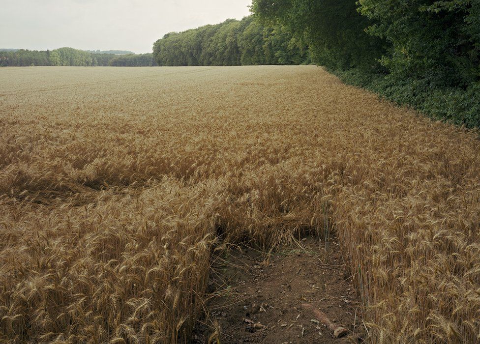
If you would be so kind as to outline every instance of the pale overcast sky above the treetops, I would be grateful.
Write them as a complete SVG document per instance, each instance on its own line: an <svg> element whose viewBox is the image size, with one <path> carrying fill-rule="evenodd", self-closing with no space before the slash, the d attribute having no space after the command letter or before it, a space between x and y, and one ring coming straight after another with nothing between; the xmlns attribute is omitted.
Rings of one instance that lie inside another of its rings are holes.
<svg viewBox="0 0 480 344"><path fill-rule="evenodd" d="M0 48L72 47L150 53L171 31L249 14L251 0L1 1Z"/></svg>

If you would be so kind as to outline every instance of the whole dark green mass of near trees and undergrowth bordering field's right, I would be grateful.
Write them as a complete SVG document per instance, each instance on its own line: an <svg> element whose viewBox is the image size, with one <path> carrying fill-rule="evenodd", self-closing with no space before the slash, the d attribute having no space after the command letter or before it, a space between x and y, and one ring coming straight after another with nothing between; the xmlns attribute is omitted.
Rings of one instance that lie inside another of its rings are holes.
<svg viewBox="0 0 480 344"><path fill-rule="evenodd" d="M344 81L480 127L480 0L253 0Z"/></svg>

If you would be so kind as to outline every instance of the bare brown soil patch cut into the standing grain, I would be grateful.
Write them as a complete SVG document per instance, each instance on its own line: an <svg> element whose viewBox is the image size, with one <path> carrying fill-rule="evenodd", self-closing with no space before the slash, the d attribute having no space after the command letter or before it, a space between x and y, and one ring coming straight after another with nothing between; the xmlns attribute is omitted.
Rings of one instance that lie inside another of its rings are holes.
<svg viewBox="0 0 480 344"><path fill-rule="evenodd" d="M206 323L218 323L221 344L359 343L366 339L361 302L338 244L331 242L327 255L317 238L303 240L296 248L267 257L243 247L216 259L210 288L217 292L208 304ZM327 327L311 321L314 316L302 309L302 303L325 312L350 335L334 338ZM262 327L253 329L245 319ZM211 333L209 326L197 328L194 343L208 343Z"/></svg>

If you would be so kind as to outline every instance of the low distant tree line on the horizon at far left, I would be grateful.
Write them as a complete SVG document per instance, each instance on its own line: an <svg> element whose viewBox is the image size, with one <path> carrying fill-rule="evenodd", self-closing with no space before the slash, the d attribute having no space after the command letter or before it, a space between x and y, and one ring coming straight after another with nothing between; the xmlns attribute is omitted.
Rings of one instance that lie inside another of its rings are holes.
<svg viewBox="0 0 480 344"><path fill-rule="evenodd" d="M92 54L73 48L52 51L15 50L0 52L0 66L152 66L152 54Z"/></svg>

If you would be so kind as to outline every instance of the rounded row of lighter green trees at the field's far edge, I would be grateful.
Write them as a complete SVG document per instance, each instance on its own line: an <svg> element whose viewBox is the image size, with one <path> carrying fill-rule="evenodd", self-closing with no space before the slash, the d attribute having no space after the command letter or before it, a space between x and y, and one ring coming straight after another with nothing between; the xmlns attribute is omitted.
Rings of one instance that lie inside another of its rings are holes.
<svg viewBox="0 0 480 344"><path fill-rule="evenodd" d="M304 43L282 25L262 25L253 16L167 33L153 45L160 66L301 64L310 61Z"/></svg>

